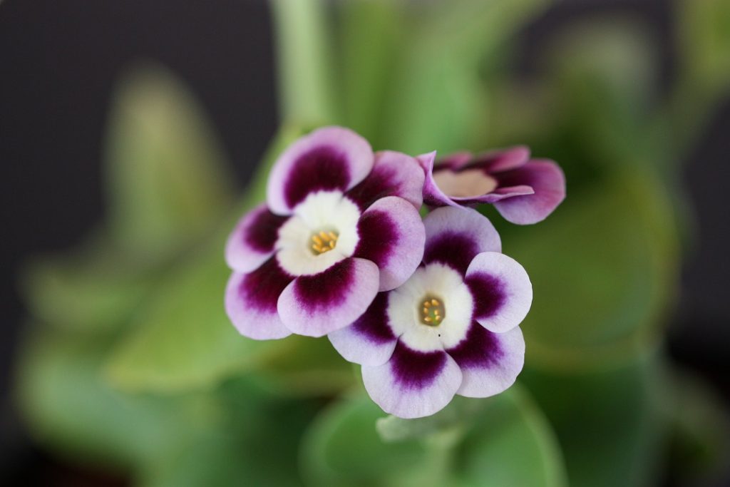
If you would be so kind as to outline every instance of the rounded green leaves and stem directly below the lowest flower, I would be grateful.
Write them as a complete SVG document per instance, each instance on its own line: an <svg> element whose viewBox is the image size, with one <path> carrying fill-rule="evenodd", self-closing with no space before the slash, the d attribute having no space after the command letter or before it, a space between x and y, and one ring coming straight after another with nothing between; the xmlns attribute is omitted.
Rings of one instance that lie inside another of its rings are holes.
<svg viewBox="0 0 730 487"><path fill-rule="evenodd" d="M301 458L312 486L566 485L550 426L517 386L414 420L355 394L312 423Z"/></svg>

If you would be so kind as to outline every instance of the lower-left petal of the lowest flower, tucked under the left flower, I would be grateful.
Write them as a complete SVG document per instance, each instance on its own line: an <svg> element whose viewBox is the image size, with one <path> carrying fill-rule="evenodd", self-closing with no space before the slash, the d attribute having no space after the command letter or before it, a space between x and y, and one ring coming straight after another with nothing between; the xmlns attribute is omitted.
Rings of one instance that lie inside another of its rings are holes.
<svg viewBox="0 0 730 487"><path fill-rule="evenodd" d="M398 339L388 324L388 293L375 296L357 321L327 335L345 360L362 365L385 364L393 355Z"/></svg>

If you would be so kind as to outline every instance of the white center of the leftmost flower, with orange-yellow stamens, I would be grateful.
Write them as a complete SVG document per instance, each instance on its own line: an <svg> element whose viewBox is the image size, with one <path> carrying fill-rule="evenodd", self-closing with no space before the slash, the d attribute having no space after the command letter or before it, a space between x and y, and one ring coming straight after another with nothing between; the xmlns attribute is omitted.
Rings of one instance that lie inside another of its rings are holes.
<svg viewBox="0 0 730 487"><path fill-rule="evenodd" d="M277 260L291 275L314 275L353 255L360 210L340 191L311 193L279 229Z"/></svg>

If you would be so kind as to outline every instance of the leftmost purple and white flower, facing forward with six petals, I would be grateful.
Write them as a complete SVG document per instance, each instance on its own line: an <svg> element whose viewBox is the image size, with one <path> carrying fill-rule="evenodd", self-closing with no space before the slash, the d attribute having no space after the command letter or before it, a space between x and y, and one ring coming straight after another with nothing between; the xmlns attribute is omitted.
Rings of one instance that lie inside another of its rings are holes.
<svg viewBox="0 0 730 487"><path fill-rule="evenodd" d="M278 158L261 204L226 245L226 312L257 340L321 337L353 323L423 256L415 158L373 153L348 129L301 137Z"/></svg>

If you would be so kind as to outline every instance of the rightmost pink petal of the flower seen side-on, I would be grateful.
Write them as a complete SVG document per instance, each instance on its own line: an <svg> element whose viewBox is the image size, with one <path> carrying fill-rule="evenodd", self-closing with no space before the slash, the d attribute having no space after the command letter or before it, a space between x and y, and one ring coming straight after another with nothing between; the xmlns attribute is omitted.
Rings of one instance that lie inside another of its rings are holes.
<svg viewBox="0 0 730 487"><path fill-rule="evenodd" d="M518 225L545 220L565 199L565 175L553 161L530 161L496 177L500 186L529 185L534 189L534 194L515 196L494 204L505 220Z"/></svg>

